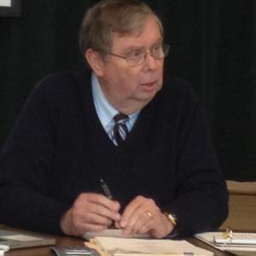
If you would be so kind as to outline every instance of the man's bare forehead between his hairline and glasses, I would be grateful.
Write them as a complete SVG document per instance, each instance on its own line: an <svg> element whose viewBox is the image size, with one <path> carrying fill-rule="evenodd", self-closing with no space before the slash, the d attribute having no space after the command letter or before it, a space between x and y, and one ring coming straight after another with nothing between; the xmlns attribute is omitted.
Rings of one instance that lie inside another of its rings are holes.
<svg viewBox="0 0 256 256"><path fill-rule="evenodd" d="M153 16L129 34L113 33L112 49L129 49L131 47L150 47L162 38L160 26Z"/></svg>

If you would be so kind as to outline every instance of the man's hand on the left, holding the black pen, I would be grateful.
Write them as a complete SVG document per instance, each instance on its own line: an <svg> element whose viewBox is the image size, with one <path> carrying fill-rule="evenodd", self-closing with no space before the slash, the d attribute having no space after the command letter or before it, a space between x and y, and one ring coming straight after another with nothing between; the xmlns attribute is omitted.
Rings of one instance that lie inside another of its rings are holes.
<svg viewBox="0 0 256 256"><path fill-rule="evenodd" d="M102 231L118 222L119 202L105 195L82 193L61 218L61 230L71 236L82 236L88 231Z"/></svg>

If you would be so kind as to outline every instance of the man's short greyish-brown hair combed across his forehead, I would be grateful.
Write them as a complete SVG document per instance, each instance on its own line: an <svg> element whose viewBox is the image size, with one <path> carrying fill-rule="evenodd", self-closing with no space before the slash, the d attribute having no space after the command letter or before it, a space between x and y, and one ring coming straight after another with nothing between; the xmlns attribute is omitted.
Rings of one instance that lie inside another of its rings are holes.
<svg viewBox="0 0 256 256"><path fill-rule="evenodd" d="M86 49L94 49L102 55L112 48L113 33L129 35L143 26L149 15L154 16L160 32L163 26L159 17L146 3L137 0L104 0L88 9L79 32L79 47L84 55Z"/></svg>

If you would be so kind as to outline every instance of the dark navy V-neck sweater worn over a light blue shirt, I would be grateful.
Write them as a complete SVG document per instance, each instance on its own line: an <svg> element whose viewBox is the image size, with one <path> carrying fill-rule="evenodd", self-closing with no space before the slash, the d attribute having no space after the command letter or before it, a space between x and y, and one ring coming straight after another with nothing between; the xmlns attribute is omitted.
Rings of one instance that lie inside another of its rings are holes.
<svg viewBox="0 0 256 256"><path fill-rule="evenodd" d="M214 230L227 215L227 190L195 91L165 78L131 133L116 147L94 107L90 73L63 72L29 96L0 158L0 223L61 233L60 219L81 192L124 208L136 195L177 216L182 236Z"/></svg>

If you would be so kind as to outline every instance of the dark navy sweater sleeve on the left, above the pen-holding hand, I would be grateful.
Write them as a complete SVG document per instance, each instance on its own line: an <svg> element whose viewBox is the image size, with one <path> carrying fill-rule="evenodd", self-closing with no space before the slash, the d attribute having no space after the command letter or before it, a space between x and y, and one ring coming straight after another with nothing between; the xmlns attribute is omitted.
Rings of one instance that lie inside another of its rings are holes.
<svg viewBox="0 0 256 256"><path fill-rule="evenodd" d="M61 233L70 207L48 196L55 150L44 83L33 90L0 155L0 222L22 229Z"/></svg>

